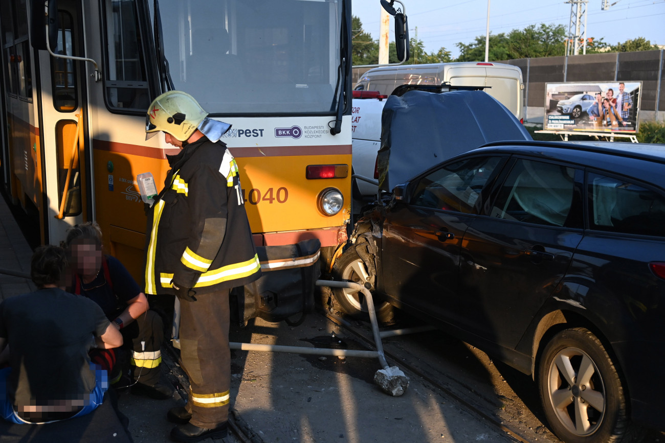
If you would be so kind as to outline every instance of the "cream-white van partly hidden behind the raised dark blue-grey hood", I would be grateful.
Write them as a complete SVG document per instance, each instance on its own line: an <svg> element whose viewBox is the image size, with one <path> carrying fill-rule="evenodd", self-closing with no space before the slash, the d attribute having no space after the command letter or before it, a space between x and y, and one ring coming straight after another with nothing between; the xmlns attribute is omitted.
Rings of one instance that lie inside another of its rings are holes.
<svg viewBox="0 0 665 443"><path fill-rule="evenodd" d="M522 70L512 64L456 62L381 66L362 74L354 90L378 91L388 95L402 84L439 85L444 82L450 82L452 86L491 86L485 92L523 122Z"/></svg>

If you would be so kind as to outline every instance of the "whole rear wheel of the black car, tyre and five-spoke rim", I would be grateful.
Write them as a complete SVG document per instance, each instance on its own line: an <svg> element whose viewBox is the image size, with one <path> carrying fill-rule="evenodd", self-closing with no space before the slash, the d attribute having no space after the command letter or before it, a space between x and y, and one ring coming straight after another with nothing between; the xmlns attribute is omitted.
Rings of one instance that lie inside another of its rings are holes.
<svg viewBox="0 0 665 443"><path fill-rule="evenodd" d="M561 331L543 350L539 385L551 430L569 443L615 442L628 427L620 377L588 329Z"/></svg>

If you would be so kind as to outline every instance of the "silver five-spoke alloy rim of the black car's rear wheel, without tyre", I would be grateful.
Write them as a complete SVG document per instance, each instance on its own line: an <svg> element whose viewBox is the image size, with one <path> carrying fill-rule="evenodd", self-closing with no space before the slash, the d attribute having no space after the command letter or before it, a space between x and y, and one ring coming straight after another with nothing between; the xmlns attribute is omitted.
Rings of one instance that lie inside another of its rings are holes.
<svg viewBox="0 0 665 443"><path fill-rule="evenodd" d="M587 353L567 347L551 361L547 393L559 422L569 432L589 436L602 424L606 395L600 371Z"/></svg>

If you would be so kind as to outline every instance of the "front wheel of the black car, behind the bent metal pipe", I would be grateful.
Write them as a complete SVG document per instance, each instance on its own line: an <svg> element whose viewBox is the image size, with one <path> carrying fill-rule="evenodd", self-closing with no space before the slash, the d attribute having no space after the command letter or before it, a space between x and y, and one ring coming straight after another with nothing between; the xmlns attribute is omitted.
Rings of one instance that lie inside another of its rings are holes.
<svg viewBox="0 0 665 443"><path fill-rule="evenodd" d="M337 259L332 273L335 280L346 280L358 284L364 284L368 278L367 268L354 248L346 250ZM369 319L366 298L362 292L348 288L332 288L332 290L334 298L343 313L357 319ZM372 300L374 301L376 319L380 323L392 322L394 319L392 306L388 302L376 300L374 293L372 293Z"/></svg>

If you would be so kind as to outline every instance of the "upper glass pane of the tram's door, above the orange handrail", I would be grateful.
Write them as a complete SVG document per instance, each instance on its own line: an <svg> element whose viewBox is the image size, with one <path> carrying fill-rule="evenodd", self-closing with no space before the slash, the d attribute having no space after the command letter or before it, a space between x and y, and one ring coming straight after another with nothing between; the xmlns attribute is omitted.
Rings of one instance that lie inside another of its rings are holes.
<svg viewBox="0 0 665 443"><path fill-rule="evenodd" d="M74 55L72 39L72 15L59 11L60 29L58 30L57 54ZM74 60L51 57L51 78L53 79L53 106L60 112L73 112L78 109L78 93Z"/></svg>

